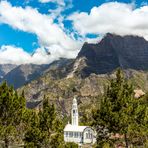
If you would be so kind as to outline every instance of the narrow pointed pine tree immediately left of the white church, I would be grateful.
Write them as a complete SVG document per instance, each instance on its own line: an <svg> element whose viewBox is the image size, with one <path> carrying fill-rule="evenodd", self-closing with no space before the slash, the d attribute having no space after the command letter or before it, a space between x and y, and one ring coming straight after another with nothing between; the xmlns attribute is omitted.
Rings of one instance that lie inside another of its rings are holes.
<svg viewBox="0 0 148 148"><path fill-rule="evenodd" d="M55 106L50 104L44 97L43 107L39 111L40 128L44 134L44 144L46 147L60 147L63 143L63 124L57 116Z"/></svg>

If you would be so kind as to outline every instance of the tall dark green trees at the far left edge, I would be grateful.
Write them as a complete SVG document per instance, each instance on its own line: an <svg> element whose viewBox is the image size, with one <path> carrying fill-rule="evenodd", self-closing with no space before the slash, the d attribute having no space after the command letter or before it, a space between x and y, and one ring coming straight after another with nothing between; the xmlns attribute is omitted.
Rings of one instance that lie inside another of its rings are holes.
<svg viewBox="0 0 148 148"><path fill-rule="evenodd" d="M5 147L18 138L19 126L22 123L25 110L25 98L18 96L6 82L0 86L0 139L5 142Z"/></svg>

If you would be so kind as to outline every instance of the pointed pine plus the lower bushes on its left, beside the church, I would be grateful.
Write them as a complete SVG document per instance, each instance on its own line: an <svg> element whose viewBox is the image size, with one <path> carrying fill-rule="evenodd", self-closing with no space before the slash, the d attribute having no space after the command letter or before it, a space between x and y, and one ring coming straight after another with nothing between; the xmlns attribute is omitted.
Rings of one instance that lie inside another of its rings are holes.
<svg viewBox="0 0 148 148"><path fill-rule="evenodd" d="M44 98L43 107L34 112L30 125L25 133L25 147L62 148L63 125L57 116L54 105Z"/></svg>

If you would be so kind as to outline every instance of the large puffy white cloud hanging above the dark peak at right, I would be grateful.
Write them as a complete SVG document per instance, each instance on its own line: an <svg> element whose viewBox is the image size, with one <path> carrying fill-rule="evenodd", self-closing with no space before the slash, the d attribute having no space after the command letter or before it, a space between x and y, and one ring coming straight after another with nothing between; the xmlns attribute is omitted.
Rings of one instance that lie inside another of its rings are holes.
<svg viewBox="0 0 148 148"><path fill-rule="evenodd" d="M93 7L90 13L76 12L68 17L79 34L139 35L148 39L148 6L109 2Z"/></svg>

